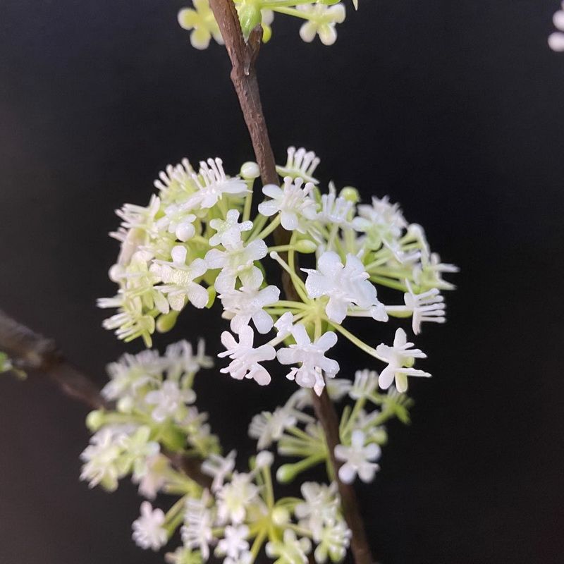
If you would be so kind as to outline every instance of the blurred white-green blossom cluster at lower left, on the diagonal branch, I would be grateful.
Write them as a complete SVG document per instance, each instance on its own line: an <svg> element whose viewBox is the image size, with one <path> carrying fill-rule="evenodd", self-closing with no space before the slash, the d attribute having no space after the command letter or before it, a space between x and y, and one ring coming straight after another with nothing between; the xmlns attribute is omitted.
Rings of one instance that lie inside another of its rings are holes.
<svg viewBox="0 0 564 564"><path fill-rule="evenodd" d="M165 485L161 483L165 477L168 490L183 488L185 478L160 453L206 457L219 452L207 414L191 405L196 399L195 374L211 366L203 341L196 352L190 343L180 341L168 346L164 356L145 350L109 364L110 381L102 394L115 402L115 409L88 415L87 425L95 433L81 455L80 478L91 487L100 484L113 491L119 479L131 474L149 498L157 493L157 484Z"/></svg>

